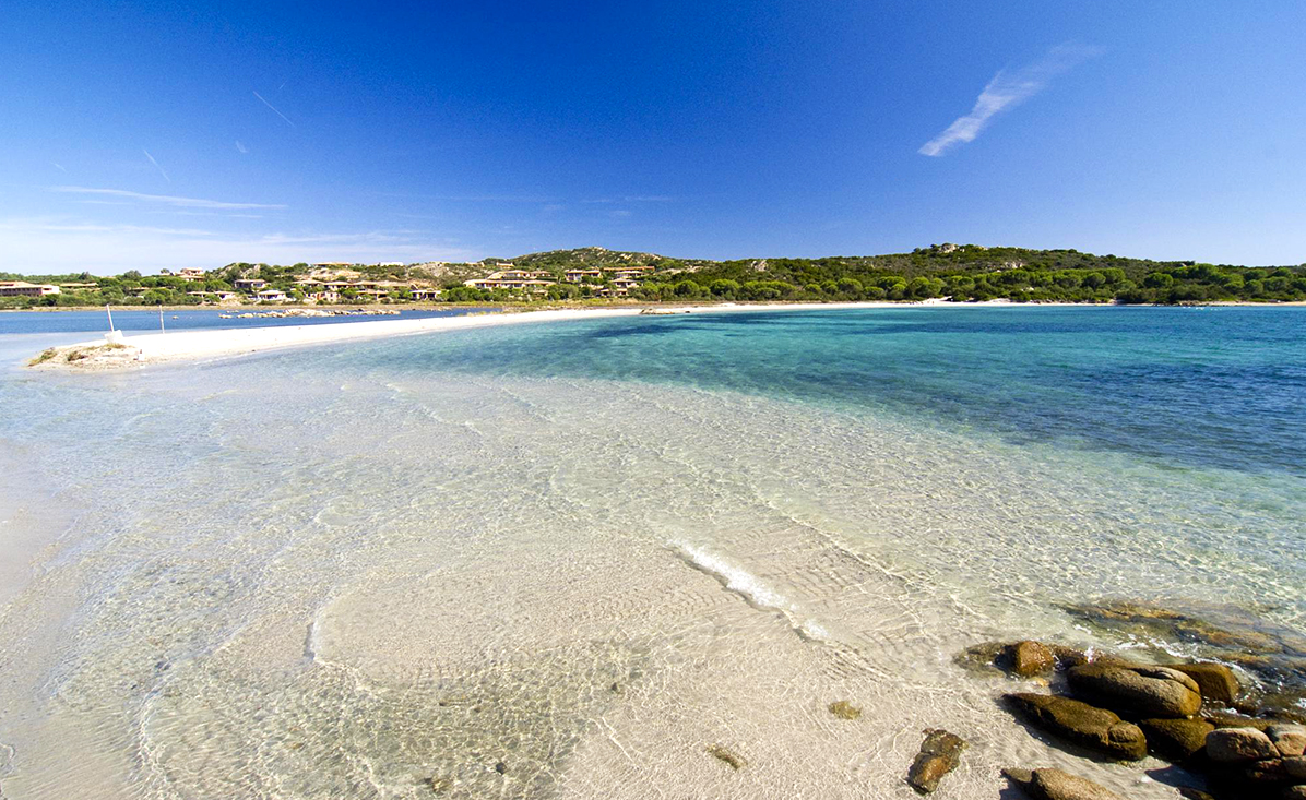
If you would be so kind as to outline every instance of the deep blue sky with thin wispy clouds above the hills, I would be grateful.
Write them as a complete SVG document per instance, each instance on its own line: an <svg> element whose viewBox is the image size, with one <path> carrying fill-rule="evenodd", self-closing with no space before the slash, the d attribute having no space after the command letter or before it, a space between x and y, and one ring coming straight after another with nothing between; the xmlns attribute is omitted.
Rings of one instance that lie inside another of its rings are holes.
<svg viewBox="0 0 1306 800"><path fill-rule="evenodd" d="M0 4L0 270L1306 261L1306 4Z"/></svg>

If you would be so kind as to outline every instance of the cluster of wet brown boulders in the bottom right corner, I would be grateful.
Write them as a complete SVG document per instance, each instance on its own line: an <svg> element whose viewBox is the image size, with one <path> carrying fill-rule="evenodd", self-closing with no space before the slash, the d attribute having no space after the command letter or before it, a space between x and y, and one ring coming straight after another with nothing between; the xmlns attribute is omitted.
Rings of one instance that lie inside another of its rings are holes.
<svg viewBox="0 0 1306 800"><path fill-rule="evenodd" d="M1127 630L1134 641L1141 632L1158 645L1182 641L1200 660L1179 663L1161 646L1145 655L1168 663L1033 641L976 645L956 660L1049 686L1002 700L1054 743L1121 761L1152 754L1204 775L1207 786L1185 787L1186 797L1306 800L1306 727L1296 722L1306 713L1306 641L1228 609L1216 620L1127 603L1077 606L1072 613ZM1118 797L1058 770L1004 774L1033 797Z"/></svg>

